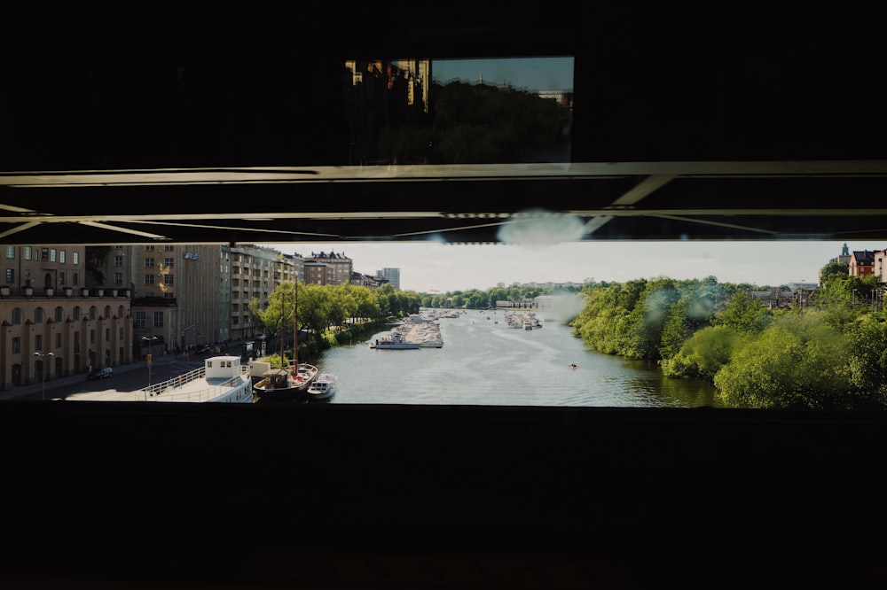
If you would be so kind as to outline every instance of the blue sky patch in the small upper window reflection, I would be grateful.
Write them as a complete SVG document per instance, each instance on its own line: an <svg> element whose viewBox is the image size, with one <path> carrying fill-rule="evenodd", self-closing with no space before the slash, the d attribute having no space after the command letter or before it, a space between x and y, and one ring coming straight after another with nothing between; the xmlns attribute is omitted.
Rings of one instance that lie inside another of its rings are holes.
<svg viewBox="0 0 887 590"><path fill-rule="evenodd" d="M572 90L573 58L434 59L432 77L442 83L508 83L516 89Z"/></svg>

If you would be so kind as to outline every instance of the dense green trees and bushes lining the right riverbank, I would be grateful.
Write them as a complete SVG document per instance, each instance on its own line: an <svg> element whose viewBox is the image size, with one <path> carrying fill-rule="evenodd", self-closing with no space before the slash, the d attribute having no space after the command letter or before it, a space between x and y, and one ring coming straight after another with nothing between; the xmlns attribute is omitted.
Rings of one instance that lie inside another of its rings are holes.
<svg viewBox="0 0 887 590"><path fill-rule="evenodd" d="M749 285L667 277L586 285L573 333L600 353L709 379L728 407L887 408L887 316L875 277L823 268L821 288L770 308Z"/></svg>

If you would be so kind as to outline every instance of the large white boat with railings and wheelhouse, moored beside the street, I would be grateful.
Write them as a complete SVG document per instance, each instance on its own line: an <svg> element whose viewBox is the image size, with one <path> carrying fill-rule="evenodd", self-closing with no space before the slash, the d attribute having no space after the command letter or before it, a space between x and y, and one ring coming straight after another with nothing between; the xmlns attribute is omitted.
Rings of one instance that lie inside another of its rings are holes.
<svg viewBox="0 0 887 590"><path fill-rule="evenodd" d="M76 401L177 401L190 403L243 403L255 401L249 366L239 356L211 356L203 367L152 384L137 392L82 392L68 395Z"/></svg>

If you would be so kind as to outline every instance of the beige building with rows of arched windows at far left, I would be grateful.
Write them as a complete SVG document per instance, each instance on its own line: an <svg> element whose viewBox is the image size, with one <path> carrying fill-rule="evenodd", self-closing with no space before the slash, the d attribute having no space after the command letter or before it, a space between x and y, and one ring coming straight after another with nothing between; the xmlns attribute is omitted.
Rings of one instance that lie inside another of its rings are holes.
<svg viewBox="0 0 887 590"><path fill-rule="evenodd" d="M0 389L132 361L131 294L90 288L85 246L4 246Z"/></svg>

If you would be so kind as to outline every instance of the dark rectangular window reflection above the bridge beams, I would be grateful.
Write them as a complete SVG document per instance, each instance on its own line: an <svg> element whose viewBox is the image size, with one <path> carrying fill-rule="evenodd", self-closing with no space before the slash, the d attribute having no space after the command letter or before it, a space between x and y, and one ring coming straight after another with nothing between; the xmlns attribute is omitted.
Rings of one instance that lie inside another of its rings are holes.
<svg viewBox="0 0 887 590"><path fill-rule="evenodd" d="M354 59L344 70L350 165L569 161L572 58Z"/></svg>

